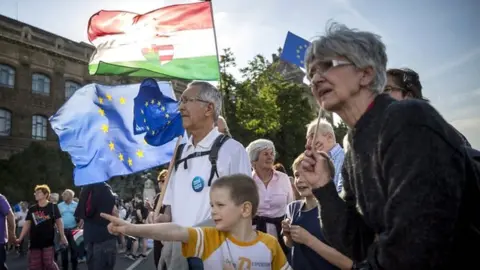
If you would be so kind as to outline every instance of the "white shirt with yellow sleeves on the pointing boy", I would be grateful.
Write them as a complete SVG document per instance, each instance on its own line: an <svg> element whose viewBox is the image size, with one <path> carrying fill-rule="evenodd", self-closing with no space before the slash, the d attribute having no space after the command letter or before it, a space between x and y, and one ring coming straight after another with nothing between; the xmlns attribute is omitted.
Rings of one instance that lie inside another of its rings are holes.
<svg viewBox="0 0 480 270"><path fill-rule="evenodd" d="M203 268L209 270L223 270L226 263L233 263L235 269L291 269L277 239L257 234L255 240L241 242L212 227L188 228L188 242L182 244L182 253L186 258L200 258Z"/></svg>

